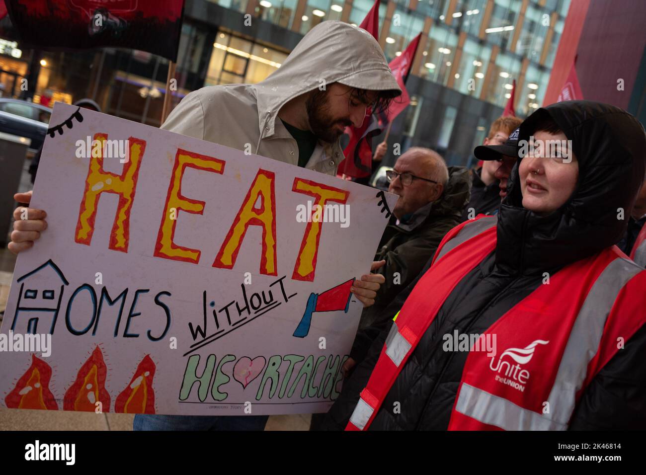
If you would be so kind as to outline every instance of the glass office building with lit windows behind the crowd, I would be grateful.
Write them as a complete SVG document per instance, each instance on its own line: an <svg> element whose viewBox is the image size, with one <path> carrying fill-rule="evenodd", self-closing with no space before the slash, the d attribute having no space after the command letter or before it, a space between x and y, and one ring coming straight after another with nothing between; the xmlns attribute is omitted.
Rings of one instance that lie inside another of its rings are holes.
<svg viewBox="0 0 646 475"><path fill-rule="evenodd" d="M448 164L471 164L474 146L505 107L512 80L518 116L542 103L569 4L382 0L379 43L389 61L422 33L406 84L412 101L394 121L388 141L401 143L402 151L430 147ZM313 26L326 20L359 24L372 5L373 0L186 0L172 103L204 86L262 81ZM23 61L34 54L25 49ZM14 65L0 71L3 93L19 96L12 87L25 68L16 64L15 53L2 51L0 67L3 56ZM160 125L166 59L110 48L43 52L39 58L35 101L90 97L109 114ZM386 156L384 164L394 160Z"/></svg>

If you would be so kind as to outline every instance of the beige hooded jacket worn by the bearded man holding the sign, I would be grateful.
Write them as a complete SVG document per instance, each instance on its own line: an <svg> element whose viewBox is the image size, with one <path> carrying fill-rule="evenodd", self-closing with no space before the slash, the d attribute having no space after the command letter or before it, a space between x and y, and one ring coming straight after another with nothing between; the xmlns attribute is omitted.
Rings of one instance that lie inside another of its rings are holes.
<svg viewBox="0 0 646 475"><path fill-rule="evenodd" d="M324 21L264 81L191 92L161 128L297 165L297 142L277 120L278 111L296 96L334 82L401 94L379 43L368 32L342 21ZM306 168L335 175L341 160L339 140L319 140Z"/></svg>

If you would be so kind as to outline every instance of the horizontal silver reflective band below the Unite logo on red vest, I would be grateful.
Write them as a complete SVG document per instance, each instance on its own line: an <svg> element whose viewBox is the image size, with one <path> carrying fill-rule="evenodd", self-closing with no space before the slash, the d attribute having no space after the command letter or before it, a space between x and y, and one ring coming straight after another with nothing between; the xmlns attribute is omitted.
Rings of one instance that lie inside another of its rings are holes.
<svg viewBox="0 0 646 475"><path fill-rule="evenodd" d="M484 424L505 430L565 430L567 426L550 421L533 410L522 408L504 397L494 396L464 383L455 410Z"/></svg>

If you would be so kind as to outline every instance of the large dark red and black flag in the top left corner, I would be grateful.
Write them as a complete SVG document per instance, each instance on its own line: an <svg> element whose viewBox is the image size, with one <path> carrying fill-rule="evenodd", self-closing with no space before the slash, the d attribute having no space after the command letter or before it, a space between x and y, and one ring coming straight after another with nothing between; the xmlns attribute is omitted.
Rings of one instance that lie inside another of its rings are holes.
<svg viewBox="0 0 646 475"><path fill-rule="evenodd" d="M5 0L21 43L43 50L138 49L177 59L184 0Z"/></svg>

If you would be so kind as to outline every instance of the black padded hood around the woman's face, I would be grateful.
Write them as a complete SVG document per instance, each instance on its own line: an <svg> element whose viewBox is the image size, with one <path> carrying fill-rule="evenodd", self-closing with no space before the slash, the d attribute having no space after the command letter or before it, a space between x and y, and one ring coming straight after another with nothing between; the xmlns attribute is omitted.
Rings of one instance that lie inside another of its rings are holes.
<svg viewBox="0 0 646 475"><path fill-rule="evenodd" d="M519 140L528 141L544 118L556 122L572 141L578 182L563 206L550 215L536 215L522 205L519 158L497 225L496 264L510 273L560 268L616 244L644 180L646 134L628 112L593 101L555 103L521 124Z"/></svg>

